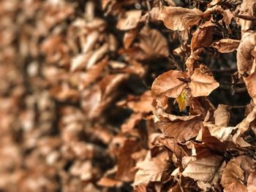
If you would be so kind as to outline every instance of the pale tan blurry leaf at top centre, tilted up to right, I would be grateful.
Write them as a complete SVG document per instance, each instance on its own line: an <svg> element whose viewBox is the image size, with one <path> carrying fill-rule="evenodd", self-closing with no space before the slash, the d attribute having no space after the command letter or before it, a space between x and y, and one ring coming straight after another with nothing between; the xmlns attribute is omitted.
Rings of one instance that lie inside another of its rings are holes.
<svg viewBox="0 0 256 192"><path fill-rule="evenodd" d="M119 30L130 30L136 28L140 22L141 10L130 10L125 12L124 18L120 18L116 25Z"/></svg>

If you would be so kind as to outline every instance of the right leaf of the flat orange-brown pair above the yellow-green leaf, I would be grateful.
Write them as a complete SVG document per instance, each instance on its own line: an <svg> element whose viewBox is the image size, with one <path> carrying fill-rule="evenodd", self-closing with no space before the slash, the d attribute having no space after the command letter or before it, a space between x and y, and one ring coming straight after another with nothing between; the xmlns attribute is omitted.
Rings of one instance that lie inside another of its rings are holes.
<svg viewBox="0 0 256 192"><path fill-rule="evenodd" d="M214 80L214 77L208 74L203 74L200 69L195 69L191 76L189 88L191 89L192 96L208 96L211 91L219 87L219 82Z"/></svg>

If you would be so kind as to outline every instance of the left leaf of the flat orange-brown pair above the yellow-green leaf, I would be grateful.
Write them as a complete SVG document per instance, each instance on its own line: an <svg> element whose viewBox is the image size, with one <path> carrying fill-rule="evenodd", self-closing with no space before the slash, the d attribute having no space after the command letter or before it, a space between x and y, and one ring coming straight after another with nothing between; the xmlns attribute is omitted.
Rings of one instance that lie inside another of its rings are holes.
<svg viewBox="0 0 256 192"><path fill-rule="evenodd" d="M178 80L177 77L184 77L184 74L179 71L169 71L160 74L152 84L153 96L164 94L167 97L176 98L181 91L187 86L186 83Z"/></svg>

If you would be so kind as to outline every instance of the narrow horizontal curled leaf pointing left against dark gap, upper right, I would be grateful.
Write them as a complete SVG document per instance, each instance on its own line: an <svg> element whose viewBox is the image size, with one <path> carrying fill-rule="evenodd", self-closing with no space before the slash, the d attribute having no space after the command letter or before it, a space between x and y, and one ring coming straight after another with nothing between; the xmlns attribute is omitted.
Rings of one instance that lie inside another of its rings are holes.
<svg viewBox="0 0 256 192"><path fill-rule="evenodd" d="M231 53L238 48L240 41L236 39L220 39L218 42L211 44L219 53Z"/></svg>

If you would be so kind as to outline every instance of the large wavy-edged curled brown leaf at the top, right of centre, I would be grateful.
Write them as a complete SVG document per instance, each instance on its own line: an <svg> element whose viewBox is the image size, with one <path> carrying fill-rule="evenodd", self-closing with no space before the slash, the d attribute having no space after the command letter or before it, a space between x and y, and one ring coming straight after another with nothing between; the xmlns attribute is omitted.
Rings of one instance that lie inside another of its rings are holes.
<svg viewBox="0 0 256 192"><path fill-rule="evenodd" d="M202 18L200 9L187 9L183 7L164 7L159 15L159 20L172 30L183 31L196 25Z"/></svg>

